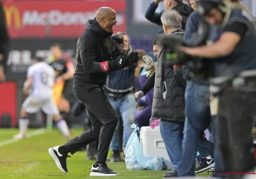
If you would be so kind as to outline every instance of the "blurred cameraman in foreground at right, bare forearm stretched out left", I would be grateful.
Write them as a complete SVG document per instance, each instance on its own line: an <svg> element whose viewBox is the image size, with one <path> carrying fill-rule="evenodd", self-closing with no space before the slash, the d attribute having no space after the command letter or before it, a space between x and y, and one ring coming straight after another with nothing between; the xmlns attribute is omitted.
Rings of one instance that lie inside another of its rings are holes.
<svg viewBox="0 0 256 179"><path fill-rule="evenodd" d="M212 45L180 50L213 59L212 91L219 97L216 144L222 167L232 173L236 169L246 172L255 166L251 131L256 105L256 30L250 14L223 2L197 1L198 12L218 27L218 40ZM240 179L243 175L227 178Z"/></svg>

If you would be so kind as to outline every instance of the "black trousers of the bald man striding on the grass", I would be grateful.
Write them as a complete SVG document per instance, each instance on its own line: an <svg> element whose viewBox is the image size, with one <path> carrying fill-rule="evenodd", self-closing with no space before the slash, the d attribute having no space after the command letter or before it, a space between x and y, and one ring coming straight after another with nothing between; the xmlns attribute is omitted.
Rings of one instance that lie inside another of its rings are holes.
<svg viewBox="0 0 256 179"><path fill-rule="evenodd" d="M68 141L64 146L68 152L74 154L87 144L99 139L96 161L106 162L109 144L118 122L116 112L102 87L97 84L73 84L73 92L76 98L86 106L92 128Z"/></svg>

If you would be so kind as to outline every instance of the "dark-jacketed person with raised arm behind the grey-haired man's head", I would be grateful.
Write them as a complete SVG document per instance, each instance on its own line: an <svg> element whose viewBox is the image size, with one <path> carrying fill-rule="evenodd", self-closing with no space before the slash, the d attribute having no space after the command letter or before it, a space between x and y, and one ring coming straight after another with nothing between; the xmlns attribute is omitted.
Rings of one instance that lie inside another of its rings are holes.
<svg viewBox="0 0 256 179"><path fill-rule="evenodd" d="M145 17L147 20L159 26L159 34L164 33L161 22L161 15L163 12L156 13L158 4L161 1L163 0L154 0L154 2L150 4L150 6L147 9L147 12L145 13ZM193 10L188 6L188 4L182 3L182 0L164 0L164 8L166 10L176 10L182 17L181 28L185 29L185 24L188 19L188 16L191 12L193 12Z"/></svg>

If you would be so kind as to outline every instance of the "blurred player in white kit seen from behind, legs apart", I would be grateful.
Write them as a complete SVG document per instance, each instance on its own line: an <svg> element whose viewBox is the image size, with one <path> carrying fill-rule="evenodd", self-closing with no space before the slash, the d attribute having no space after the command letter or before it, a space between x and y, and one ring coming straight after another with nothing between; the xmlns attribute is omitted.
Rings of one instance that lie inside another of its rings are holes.
<svg viewBox="0 0 256 179"><path fill-rule="evenodd" d="M54 69L45 63L42 58L33 59L33 65L28 68L27 80L23 88L23 92L29 96L20 109L20 132L13 136L14 139L24 139L26 137L29 124L28 114L36 113L39 109L42 109L47 115L52 115L63 136L66 139L70 139L67 123L61 117L52 95L54 80Z"/></svg>

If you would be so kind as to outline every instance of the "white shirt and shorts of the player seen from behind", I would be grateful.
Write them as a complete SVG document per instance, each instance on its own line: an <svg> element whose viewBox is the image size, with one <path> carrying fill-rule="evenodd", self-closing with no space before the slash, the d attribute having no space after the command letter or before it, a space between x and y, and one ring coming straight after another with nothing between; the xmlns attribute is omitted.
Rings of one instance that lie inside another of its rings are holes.
<svg viewBox="0 0 256 179"><path fill-rule="evenodd" d="M32 93L26 98L22 107L27 113L36 113L42 109L45 114L60 114L52 96L54 69L44 61L29 66L27 77L33 77Z"/></svg>

